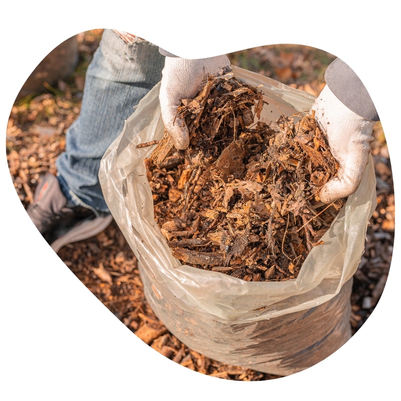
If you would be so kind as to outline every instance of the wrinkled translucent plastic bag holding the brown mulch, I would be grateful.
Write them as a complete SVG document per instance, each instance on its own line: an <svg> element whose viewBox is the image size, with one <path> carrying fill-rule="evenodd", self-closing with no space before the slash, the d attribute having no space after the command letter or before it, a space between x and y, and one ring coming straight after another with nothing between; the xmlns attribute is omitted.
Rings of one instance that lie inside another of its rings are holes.
<svg viewBox="0 0 401 401"><path fill-rule="evenodd" d="M309 111L314 97L237 67L235 76L259 89L269 103L262 120ZM153 215L143 160L160 139L159 84L127 119L105 153L99 178L107 205L135 256L146 300L167 329L212 359L288 375L323 360L350 338L352 276L364 250L376 206L372 159L324 243L311 250L297 279L247 282L197 269L172 257ZM277 107L278 104L279 108ZM280 109L280 110L279 110Z"/></svg>

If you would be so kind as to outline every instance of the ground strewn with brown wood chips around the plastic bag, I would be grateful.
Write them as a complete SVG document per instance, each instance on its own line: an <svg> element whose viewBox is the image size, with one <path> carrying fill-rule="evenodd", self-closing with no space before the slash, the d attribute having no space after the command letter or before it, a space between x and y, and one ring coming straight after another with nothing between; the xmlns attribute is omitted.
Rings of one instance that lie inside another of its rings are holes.
<svg viewBox="0 0 401 401"><path fill-rule="evenodd" d="M27 207L40 176L56 172L65 133L77 118L84 73L98 46L101 30L78 36L80 61L74 74L42 93L20 99L7 128L7 158L16 191ZM266 46L229 55L233 64L265 74L317 95L324 69L334 56L304 46ZM365 252L354 275L351 327L354 334L370 316L383 291L394 240L394 190L391 165L380 123L374 127L372 155L377 179L377 208L366 233ZM68 245L60 258L86 287L132 332L167 358L189 369L231 380L267 380L279 376L222 364L187 348L154 315L143 295L136 258L113 222L94 238Z"/></svg>

